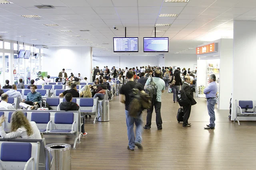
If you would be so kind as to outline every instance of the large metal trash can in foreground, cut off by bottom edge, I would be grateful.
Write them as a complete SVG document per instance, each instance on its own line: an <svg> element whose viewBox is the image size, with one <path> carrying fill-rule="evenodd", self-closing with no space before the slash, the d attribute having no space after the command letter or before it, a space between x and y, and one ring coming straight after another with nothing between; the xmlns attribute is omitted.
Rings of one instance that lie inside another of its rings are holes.
<svg viewBox="0 0 256 170"><path fill-rule="evenodd" d="M52 143L44 147L49 170L71 170L71 145Z"/></svg>

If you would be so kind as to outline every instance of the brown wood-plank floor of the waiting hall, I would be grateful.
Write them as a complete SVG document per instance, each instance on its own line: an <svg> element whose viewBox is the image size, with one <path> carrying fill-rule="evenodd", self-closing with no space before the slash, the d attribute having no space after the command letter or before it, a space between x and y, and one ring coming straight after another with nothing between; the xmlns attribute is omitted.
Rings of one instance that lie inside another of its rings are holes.
<svg viewBox="0 0 256 170"><path fill-rule="evenodd" d="M189 122L182 127L176 120L179 105L172 94L162 96L163 129L155 121L142 135L144 150L127 150L128 137L124 105L118 97L110 102L110 121L86 119L88 135L71 152L72 170L255 170L256 123L241 126L228 119L229 111L215 109L216 129L204 130L209 124L206 100L195 98ZM155 115L155 114L154 114ZM144 123L146 113L143 113ZM155 118L152 118L154 120ZM72 137L46 137L46 143L69 143Z"/></svg>

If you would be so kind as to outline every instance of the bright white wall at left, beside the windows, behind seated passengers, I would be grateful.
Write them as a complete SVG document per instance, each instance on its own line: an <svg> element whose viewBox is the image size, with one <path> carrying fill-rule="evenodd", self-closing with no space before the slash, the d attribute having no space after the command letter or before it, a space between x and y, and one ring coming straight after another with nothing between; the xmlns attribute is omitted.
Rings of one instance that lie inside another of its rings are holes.
<svg viewBox="0 0 256 170"><path fill-rule="evenodd" d="M58 76L65 68L70 76L78 73L87 77L90 82L91 72L91 48L90 47L49 47L44 49L44 70L50 76Z"/></svg>

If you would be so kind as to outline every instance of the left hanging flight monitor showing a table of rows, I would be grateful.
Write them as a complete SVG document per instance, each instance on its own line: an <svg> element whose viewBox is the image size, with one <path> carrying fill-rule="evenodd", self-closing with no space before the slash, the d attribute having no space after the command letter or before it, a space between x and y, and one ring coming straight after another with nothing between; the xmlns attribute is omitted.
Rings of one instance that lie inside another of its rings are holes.
<svg viewBox="0 0 256 170"><path fill-rule="evenodd" d="M138 37L114 37L114 52L138 52Z"/></svg>

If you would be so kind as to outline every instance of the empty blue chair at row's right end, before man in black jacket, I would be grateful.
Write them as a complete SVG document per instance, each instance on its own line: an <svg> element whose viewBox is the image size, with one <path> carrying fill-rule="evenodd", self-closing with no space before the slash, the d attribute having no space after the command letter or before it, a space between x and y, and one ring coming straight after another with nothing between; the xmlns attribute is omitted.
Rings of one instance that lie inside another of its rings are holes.
<svg viewBox="0 0 256 170"><path fill-rule="evenodd" d="M59 112L54 115L53 127L49 133L75 133L76 132L76 121L74 121L74 113L72 112ZM58 126L60 124L60 126ZM72 127L70 128L70 126ZM65 127L66 126L66 127ZM68 129L67 129L68 128Z"/></svg>

